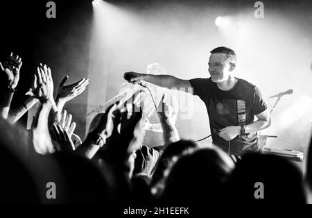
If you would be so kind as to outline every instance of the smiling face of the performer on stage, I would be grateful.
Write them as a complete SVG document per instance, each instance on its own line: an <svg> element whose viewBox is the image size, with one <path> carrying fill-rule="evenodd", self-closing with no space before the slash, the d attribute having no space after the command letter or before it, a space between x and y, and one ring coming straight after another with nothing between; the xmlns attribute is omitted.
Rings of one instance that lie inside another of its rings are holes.
<svg viewBox="0 0 312 218"><path fill-rule="evenodd" d="M211 81L214 83L227 81L229 75L232 73L229 71L231 65L227 61L225 53L212 53L208 65Z"/></svg>

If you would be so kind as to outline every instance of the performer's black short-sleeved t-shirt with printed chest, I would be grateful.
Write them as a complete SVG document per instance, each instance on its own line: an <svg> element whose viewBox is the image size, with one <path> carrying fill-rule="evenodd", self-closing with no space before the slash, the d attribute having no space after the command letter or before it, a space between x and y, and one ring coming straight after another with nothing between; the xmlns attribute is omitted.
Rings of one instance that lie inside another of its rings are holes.
<svg viewBox="0 0 312 218"><path fill-rule="evenodd" d="M193 94L200 97L206 105L211 134L227 126L251 124L254 115L267 109L258 87L241 78L237 80L236 85L229 91L220 90L211 78L190 80ZM259 151L257 133L238 135L229 142L218 134L213 134L212 140L223 151L236 156L241 156L245 151Z"/></svg>

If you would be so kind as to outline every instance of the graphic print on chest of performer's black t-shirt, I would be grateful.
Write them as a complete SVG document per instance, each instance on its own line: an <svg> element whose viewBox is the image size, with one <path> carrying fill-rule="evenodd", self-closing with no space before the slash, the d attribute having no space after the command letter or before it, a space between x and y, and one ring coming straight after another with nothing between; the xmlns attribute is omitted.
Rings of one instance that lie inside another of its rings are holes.
<svg viewBox="0 0 312 218"><path fill-rule="evenodd" d="M226 126L244 125L246 122L246 104L244 100L210 99L209 119L214 133Z"/></svg>

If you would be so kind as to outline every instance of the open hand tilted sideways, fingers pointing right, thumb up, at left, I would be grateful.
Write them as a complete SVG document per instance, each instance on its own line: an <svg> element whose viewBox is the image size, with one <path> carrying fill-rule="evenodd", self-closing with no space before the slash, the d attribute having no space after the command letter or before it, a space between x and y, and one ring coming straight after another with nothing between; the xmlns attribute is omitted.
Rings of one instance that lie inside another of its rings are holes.
<svg viewBox="0 0 312 218"><path fill-rule="evenodd" d="M64 85L68 80L68 76L64 76L62 82L58 87L58 99L64 99L64 101L70 101L71 99L77 97L79 94L85 91L87 85L89 84L89 79L82 78L76 83L70 85Z"/></svg>

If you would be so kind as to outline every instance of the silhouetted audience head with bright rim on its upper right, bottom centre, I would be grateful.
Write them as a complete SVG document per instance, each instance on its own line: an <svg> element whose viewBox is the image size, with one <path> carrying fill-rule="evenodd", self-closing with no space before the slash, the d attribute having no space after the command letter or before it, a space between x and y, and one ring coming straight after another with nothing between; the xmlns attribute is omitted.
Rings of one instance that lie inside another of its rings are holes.
<svg viewBox="0 0 312 218"><path fill-rule="evenodd" d="M168 203L202 205L218 203L234 162L218 148L200 149L178 160L166 180Z"/></svg>

